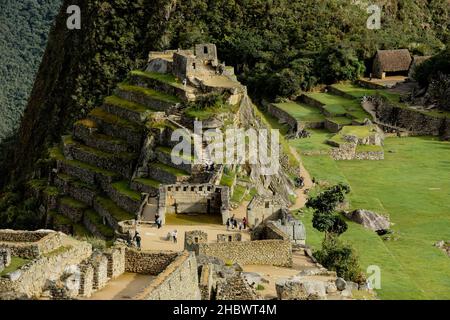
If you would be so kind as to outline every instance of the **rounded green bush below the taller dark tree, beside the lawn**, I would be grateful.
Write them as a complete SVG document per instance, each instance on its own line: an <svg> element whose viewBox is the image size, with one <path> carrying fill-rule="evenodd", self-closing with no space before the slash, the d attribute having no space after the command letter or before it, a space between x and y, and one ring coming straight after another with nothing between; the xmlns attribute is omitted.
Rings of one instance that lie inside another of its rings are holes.
<svg viewBox="0 0 450 320"><path fill-rule="evenodd" d="M341 278L357 283L365 282L355 250L336 236L326 237L322 242L322 249L315 251L314 257L328 270L336 271Z"/></svg>

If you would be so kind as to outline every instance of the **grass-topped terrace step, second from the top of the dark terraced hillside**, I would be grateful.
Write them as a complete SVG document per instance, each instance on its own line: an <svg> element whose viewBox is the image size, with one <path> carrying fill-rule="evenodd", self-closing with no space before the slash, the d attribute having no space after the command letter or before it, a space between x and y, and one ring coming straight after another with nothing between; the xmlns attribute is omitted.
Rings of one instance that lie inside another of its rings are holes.
<svg viewBox="0 0 450 320"><path fill-rule="evenodd" d="M121 83L117 86L115 95L156 111L166 111L181 103L181 100L175 96L126 83Z"/></svg>

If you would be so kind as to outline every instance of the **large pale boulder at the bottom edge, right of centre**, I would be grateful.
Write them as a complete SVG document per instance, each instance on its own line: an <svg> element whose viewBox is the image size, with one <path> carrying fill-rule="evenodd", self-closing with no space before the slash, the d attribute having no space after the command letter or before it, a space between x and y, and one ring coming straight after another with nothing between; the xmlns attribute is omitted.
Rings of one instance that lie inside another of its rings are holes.
<svg viewBox="0 0 450 320"><path fill-rule="evenodd" d="M321 300L326 299L326 283L299 277L279 280L276 284L279 300Z"/></svg>

